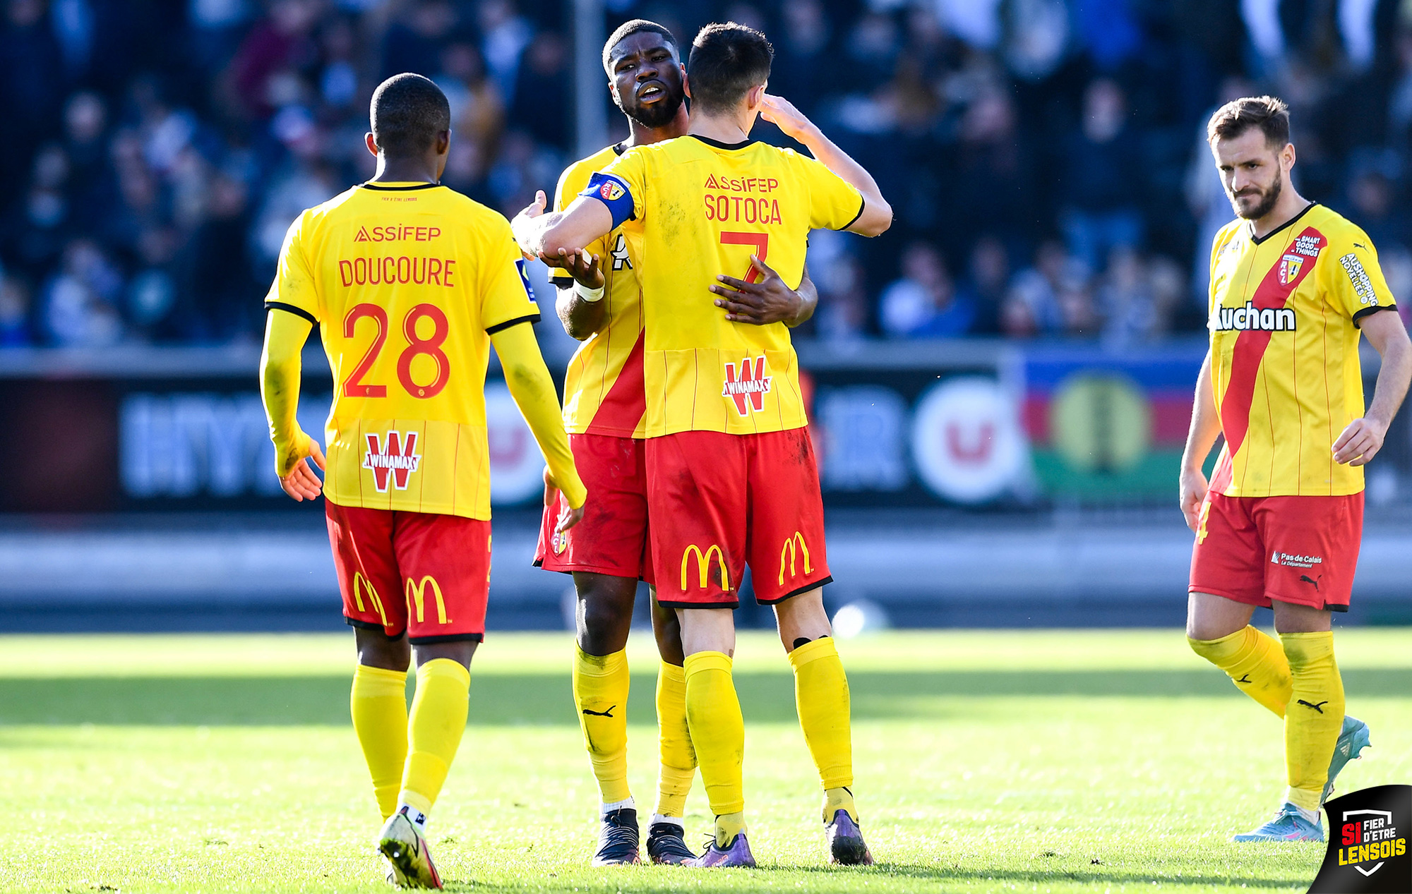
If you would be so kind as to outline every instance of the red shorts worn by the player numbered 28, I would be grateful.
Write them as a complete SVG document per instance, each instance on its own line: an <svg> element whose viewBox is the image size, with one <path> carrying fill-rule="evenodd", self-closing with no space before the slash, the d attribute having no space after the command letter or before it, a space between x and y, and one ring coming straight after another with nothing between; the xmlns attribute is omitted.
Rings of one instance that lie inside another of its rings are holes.
<svg viewBox="0 0 1412 894"><path fill-rule="evenodd" d="M352 626L412 643L484 639L490 522L323 505Z"/></svg>

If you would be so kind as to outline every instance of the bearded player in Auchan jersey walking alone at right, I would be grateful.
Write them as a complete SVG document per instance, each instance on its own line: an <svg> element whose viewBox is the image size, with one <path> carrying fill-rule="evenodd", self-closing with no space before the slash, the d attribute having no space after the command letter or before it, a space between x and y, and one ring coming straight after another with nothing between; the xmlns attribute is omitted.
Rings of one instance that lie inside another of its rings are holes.
<svg viewBox="0 0 1412 894"><path fill-rule="evenodd" d="M1211 247L1211 344L1182 461L1196 533L1186 633L1284 719L1282 805L1236 840L1323 840L1319 808L1368 745L1368 726L1344 714L1330 612L1348 609L1363 465L1406 395L1412 343L1368 235L1289 182L1285 103L1227 103L1207 137L1238 219ZM1360 330L1382 355L1367 412ZM1255 606L1274 608L1278 640L1250 625Z"/></svg>

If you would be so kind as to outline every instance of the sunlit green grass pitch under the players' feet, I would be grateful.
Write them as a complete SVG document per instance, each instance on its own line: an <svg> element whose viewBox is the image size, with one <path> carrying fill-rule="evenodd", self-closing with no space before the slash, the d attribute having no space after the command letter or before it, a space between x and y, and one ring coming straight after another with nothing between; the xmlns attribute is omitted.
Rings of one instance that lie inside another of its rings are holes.
<svg viewBox="0 0 1412 894"><path fill-rule="evenodd" d="M655 781L651 643L630 770ZM1339 633L1374 747L1412 781L1412 630ZM1284 790L1281 726L1178 630L887 633L840 643L863 829L825 864L818 778L774 637L740 637L758 870L589 869L596 788L568 635L493 635L432 815L453 891L1302 891L1319 845L1244 845ZM0 637L0 890L384 891L347 721L352 636ZM709 829L698 777L689 842Z"/></svg>

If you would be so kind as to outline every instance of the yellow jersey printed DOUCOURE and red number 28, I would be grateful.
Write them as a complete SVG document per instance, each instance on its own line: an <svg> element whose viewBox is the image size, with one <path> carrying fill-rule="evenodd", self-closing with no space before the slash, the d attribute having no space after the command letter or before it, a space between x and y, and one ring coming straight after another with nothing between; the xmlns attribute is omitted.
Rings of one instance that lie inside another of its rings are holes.
<svg viewBox="0 0 1412 894"><path fill-rule="evenodd" d="M490 334L539 319L501 214L432 183L354 186L289 226L265 306L323 337L328 499L490 518Z"/></svg>

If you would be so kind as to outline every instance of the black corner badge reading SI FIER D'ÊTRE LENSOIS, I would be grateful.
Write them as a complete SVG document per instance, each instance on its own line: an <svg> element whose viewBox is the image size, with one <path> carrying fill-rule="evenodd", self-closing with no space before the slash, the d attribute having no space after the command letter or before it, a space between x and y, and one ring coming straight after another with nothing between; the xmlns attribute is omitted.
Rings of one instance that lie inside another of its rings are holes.
<svg viewBox="0 0 1412 894"><path fill-rule="evenodd" d="M1412 785L1377 785L1324 804L1329 853L1309 894L1412 894Z"/></svg>

